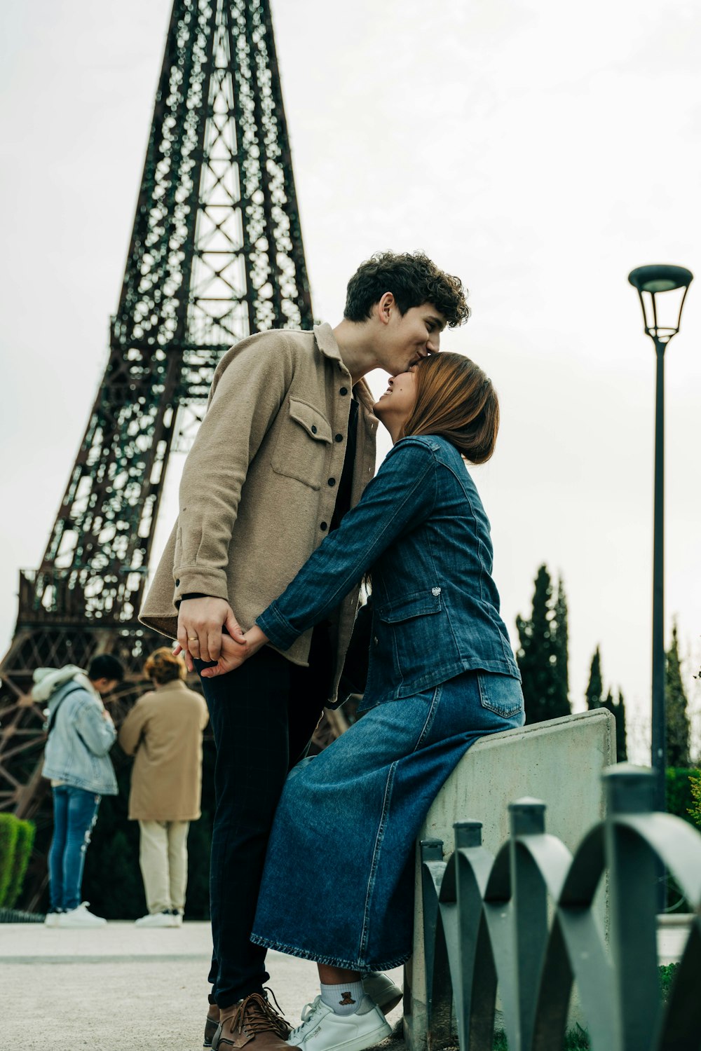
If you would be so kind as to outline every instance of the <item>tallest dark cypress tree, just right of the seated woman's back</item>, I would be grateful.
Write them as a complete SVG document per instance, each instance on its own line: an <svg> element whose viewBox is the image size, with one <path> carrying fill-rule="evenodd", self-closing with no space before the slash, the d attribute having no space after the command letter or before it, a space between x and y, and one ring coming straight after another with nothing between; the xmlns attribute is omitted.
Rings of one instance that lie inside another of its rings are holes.
<svg viewBox="0 0 701 1051"><path fill-rule="evenodd" d="M527 723L569 715L566 600L561 582L553 594L545 565L535 578L531 617L519 615L516 626Z"/></svg>

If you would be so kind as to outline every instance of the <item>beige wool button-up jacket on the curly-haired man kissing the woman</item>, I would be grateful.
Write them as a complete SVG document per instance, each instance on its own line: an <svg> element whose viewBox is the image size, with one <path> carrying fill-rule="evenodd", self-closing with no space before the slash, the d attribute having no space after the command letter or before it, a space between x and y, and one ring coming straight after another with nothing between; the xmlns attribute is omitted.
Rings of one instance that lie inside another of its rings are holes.
<svg viewBox="0 0 701 1051"><path fill-rule="evenodd" d="M220 362L205 418L185 461L180 513L141 610L176 637L176 602L227 599L247 631L328 535L346 453L352 379L330 325L243 339ZM373 397L362 380L351 506L375 471ZM335 700L357 609L336 624ZM311 631L285 652L306 665Z"/></svg>

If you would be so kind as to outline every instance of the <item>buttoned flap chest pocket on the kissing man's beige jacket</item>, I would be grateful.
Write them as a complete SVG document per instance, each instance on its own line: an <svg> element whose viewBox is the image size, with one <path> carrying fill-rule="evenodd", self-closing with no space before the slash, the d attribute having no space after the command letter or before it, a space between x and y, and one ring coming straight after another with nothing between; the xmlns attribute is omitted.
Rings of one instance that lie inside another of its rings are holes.
<svg viewBox="0 0 701 1051"><path fill-rule="evenodd" d="M270 466L275 474L319 489L330 445L331 427L326 416L307 401L291 397Z"/></svg>

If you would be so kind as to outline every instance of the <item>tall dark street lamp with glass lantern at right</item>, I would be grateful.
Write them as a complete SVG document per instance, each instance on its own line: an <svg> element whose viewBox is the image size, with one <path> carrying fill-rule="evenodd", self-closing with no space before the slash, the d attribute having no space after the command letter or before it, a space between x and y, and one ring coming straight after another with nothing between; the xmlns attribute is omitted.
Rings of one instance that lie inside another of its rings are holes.
<svg viewBox="0 0 701 1051"><path fill-rule="evenodd" d="M628 274L638 289L645 332L655 344L655 519L653 527L653 747L657 809L664 810L664 348L679 331L681 311L694 274L683 266L639 266ZM676 295L671 295L676 291ZM664 302L661 303L660 300ZM678 306L677 306L678 305ZM663 310L660 310L660 307ZM664 322L664 324L663 324Z"/></svg>

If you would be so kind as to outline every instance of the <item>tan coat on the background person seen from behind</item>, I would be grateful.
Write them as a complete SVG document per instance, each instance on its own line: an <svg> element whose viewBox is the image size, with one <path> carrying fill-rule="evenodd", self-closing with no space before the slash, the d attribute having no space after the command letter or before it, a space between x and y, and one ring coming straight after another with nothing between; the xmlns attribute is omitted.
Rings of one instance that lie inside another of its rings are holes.
<svg viewBox="0 0 701 1051"><path fill-rule="evenodd" d="M209 716L204 698L178 679L140 697L119 731L136 758L129 819L195 821L202 798L202 731Z"/></svg>

